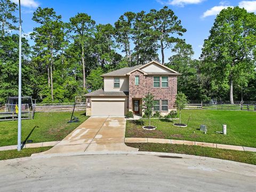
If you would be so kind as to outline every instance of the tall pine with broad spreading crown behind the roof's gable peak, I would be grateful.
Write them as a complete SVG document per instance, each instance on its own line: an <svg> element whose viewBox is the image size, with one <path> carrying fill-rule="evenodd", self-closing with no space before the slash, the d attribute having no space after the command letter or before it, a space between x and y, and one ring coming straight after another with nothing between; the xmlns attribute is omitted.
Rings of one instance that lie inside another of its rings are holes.
<svg viewBox="0 0 256 192"><path fill-rule="evenodd" d="M180 42L181 39L177 36L182 36L187 30L181 26L181 21L167 6L159 11L150 10L147 14L147 21L154 30L153 36L160 42L162 64L164 65L164 49L173 43Z"/></svg>

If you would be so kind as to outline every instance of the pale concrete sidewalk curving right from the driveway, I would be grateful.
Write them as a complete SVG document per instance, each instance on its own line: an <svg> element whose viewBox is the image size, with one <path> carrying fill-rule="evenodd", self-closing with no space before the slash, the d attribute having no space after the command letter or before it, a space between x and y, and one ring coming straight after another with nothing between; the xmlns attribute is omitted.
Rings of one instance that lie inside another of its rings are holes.
<svg viewBox="0 0 256 192"><path fill-rule="evenodd" d="M233 145L223 145L218 143L207 143L198 141L185 141L185 140L174 140L174 139L155 139L155 138L125 138L125 142L133 143L169 143L178 145L190 145L190 146L201 146L201 147L212 147L219 149L231 149L240 151L252 151L256 152L256 148L253 147L243 147L243 146L233 146Z"/></svg>

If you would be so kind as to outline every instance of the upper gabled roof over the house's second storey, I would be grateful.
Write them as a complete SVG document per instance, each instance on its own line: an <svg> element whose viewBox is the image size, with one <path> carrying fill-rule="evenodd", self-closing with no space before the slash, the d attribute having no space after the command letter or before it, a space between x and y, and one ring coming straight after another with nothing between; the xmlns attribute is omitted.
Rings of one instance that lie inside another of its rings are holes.
<svg viewBox="0 0 256 192"><path fill-rule="evenodd" d="M143 68L145 68L145 67L147 67L147 66L149 66L153 63L155 63L156 65L159 65L159 66L161 66L161 67L170 71L170 73L166 72L166 74L181 75L177 71L175 71L173 69L170 69L169 67L166 67L166 66L162 65L161 63L159 63L157 61L150 61L150 62L146 63L145 65L137 65L137 66L134 66L134 67L124 67L122 69L117 69L117 70L111 71L109 73L103 74L101 76L102 77L126 76L126 75L130 75L135 70L141 71L144 75L149 75L149 74L153 74L153 73L146 73L145 71L143 71Z"/></svg>

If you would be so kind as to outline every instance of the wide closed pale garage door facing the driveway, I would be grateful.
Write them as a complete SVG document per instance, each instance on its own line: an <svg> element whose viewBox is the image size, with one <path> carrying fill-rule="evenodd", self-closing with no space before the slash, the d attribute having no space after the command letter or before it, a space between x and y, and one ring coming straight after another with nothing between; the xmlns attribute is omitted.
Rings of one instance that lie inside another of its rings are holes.
<svg viewBox="0 0 256 192"><path fill-rule="evenodd" d="M125 101L92 101L92 115L124 116Z"/></svg>

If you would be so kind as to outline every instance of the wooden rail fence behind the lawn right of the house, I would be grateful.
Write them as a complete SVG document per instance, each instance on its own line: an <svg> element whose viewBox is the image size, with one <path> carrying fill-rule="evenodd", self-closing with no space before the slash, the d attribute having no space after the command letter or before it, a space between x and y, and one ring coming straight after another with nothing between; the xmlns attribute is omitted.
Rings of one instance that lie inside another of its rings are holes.
<svg viewBox="0 0 256 192"><path fill-rule="evenodd" d="M208 103L187 103L185 109L212 109L212 110L247 110L256 111L256 105L249 104L208 104Z"/></svg>

